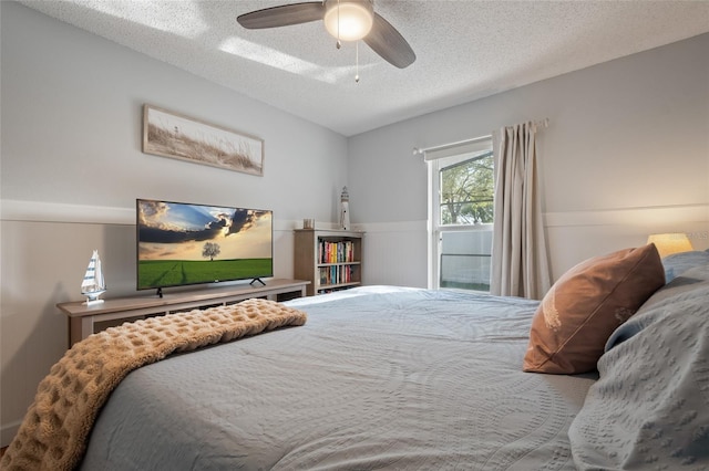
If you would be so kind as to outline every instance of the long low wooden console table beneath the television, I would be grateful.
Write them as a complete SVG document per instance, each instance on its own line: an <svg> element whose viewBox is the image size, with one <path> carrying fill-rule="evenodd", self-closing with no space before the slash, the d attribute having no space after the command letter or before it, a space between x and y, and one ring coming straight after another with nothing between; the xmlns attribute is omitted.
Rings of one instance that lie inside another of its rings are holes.
<svg viewBox="0 0 709 471"><path fill-rule="evenodd" d="M103 321L131 320L145 315L162 315L171 312L194 310L203 306L224 305L227 303L266 297L277 301L278 294L294 293L297 297L306 295L309 281L301 280L266 280L266 285L254 286L237 284L224 287L212 287L197 291L165 293L140 297L120 297L105 300L103 303L88 306L83 302L56 304L69 316L69 342L74 345L94 333L94 324Z"/></svg>

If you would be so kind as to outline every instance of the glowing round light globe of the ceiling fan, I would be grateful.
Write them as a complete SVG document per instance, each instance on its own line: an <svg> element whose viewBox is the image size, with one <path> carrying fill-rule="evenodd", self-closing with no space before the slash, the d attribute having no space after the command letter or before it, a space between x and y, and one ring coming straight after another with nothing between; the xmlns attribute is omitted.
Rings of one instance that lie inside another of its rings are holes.
<svg viewBox="0 0 709 471"><path fill-rule="evenodd" d="M372 29L374 7L371 0L326 0L322 20L333 38L358 41Z"/></svg>

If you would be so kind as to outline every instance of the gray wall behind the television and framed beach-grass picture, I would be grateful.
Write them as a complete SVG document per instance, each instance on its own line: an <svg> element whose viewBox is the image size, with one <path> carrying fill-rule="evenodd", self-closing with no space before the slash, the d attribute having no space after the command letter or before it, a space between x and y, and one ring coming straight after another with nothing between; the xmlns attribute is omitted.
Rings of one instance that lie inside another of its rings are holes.
<svg viewBox="0 0 709 471"><path fill-rule="evenodd" d="M68 346L99 249L107 297L135 294L135 198L274 210L275 272L292 229L336 221L347 139L12 2L1 2L0 423L7 444ZM148 103L265 139L265 175L142 154Z"/></svg>

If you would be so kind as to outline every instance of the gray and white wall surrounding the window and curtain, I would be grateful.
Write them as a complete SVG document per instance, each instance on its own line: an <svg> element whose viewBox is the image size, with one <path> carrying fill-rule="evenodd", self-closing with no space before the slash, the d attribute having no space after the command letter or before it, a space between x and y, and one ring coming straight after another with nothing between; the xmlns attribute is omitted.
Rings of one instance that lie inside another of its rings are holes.
<svg viewBox="0 0 709 471"><path fill-rule="evenodd" d="M557 279L589 257L688 232L709 247L709 34L349 139L350 213L368 283L427 286L428 179L413 147L549 118L538 134Z"/></svg>

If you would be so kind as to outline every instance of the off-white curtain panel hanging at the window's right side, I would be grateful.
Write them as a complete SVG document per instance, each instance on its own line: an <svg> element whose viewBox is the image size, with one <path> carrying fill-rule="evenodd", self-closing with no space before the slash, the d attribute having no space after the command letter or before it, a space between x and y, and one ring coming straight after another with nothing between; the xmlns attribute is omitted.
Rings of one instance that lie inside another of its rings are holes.
<svg viewBox="0 0 709 471"><path fill-rule="evenodd" d="M534 123L506 126L493 134L492 294L541 300L551 287L535 135Z"/></svg>

